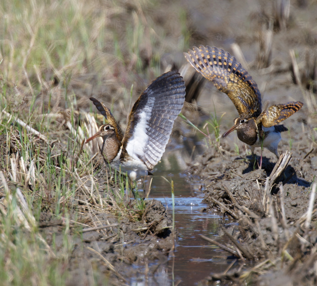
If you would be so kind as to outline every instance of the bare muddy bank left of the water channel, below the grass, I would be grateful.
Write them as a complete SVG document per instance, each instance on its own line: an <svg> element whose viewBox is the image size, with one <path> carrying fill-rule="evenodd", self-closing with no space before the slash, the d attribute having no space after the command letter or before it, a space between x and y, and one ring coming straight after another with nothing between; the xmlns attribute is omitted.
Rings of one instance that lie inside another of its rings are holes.
<svg viewBox="0 0 317 286"><path fill-rule="evenodd" d="M129 206L134 213L132 201L126 204L128 213ZM49 213L41 213L39 220L40 232L56 256L62 256L64 240L69 239L72 251L62 259L69 277L67 285L130 284L132 277L137 277L136 271L144 274L144 267L136 270L133 264L166 261L174 247L171 217L157 200L146 202L145 210L139 213L141 219L131 212L118 218L100 207L78 207L81 217L76 222L72 217L56 220Z"/></svg>

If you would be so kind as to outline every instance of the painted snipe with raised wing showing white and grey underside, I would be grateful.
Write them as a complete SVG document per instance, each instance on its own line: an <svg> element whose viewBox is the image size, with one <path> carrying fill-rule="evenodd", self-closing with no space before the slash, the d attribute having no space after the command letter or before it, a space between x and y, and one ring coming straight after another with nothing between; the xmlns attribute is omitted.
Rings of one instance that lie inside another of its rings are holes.
<svg viewBox="0 0 317 286"><path fill-rule="evenodd" d="M107 124L90 140L102 137L101 154L111 168L120 169L135 180L151 175L150 171L161 159L170 138L174 120L185 100L185 82L176 70L167 72L153 80L141 93L129 114L126 132L123 133L109 108L91 97Z"/></svg>

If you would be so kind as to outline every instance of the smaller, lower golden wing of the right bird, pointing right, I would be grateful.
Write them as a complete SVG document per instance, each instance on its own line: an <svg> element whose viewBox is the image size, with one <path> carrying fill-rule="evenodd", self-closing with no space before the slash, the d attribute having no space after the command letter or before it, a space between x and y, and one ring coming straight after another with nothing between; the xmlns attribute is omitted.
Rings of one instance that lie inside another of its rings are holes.
<svg viewBox="0 0 317 286"><path fill-rule="evenodd" d="M303 105L300 101L272 105L256 118L256 122L262 122L264 127L274 126L299 111Z"/></svg>

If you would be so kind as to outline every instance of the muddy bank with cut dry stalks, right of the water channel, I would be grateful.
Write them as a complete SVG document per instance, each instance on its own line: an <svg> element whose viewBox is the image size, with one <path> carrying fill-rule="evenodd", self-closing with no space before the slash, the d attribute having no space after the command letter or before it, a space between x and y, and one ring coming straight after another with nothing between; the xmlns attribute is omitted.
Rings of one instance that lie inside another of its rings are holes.
<svg viewBox="0 0 317 286"><path fill-rule="evenodd" d="M228 256L236 257L229 267L234 270L214 273L204 283L280 285L283 281L289 285L315 285L317 205L312 183L316 147L311 148L310 128L304 125L304 132L292 133L296 148L290 150L291 159L277 177L273 175L273 154L263 151L259 169L259 156L254 160L246 151L237 155L236 147L226 138L221 138L216 148L210 147L191 165L191 174L204 178L204 200L209 210L237 221L239 229L228 232L226 228L230 226L223 225L215 242L230 238L231 242L220 248L229 250ZM282 140L279 154L289 149L288 142ZM307 214L309 203L311 209Z"/></svg>

